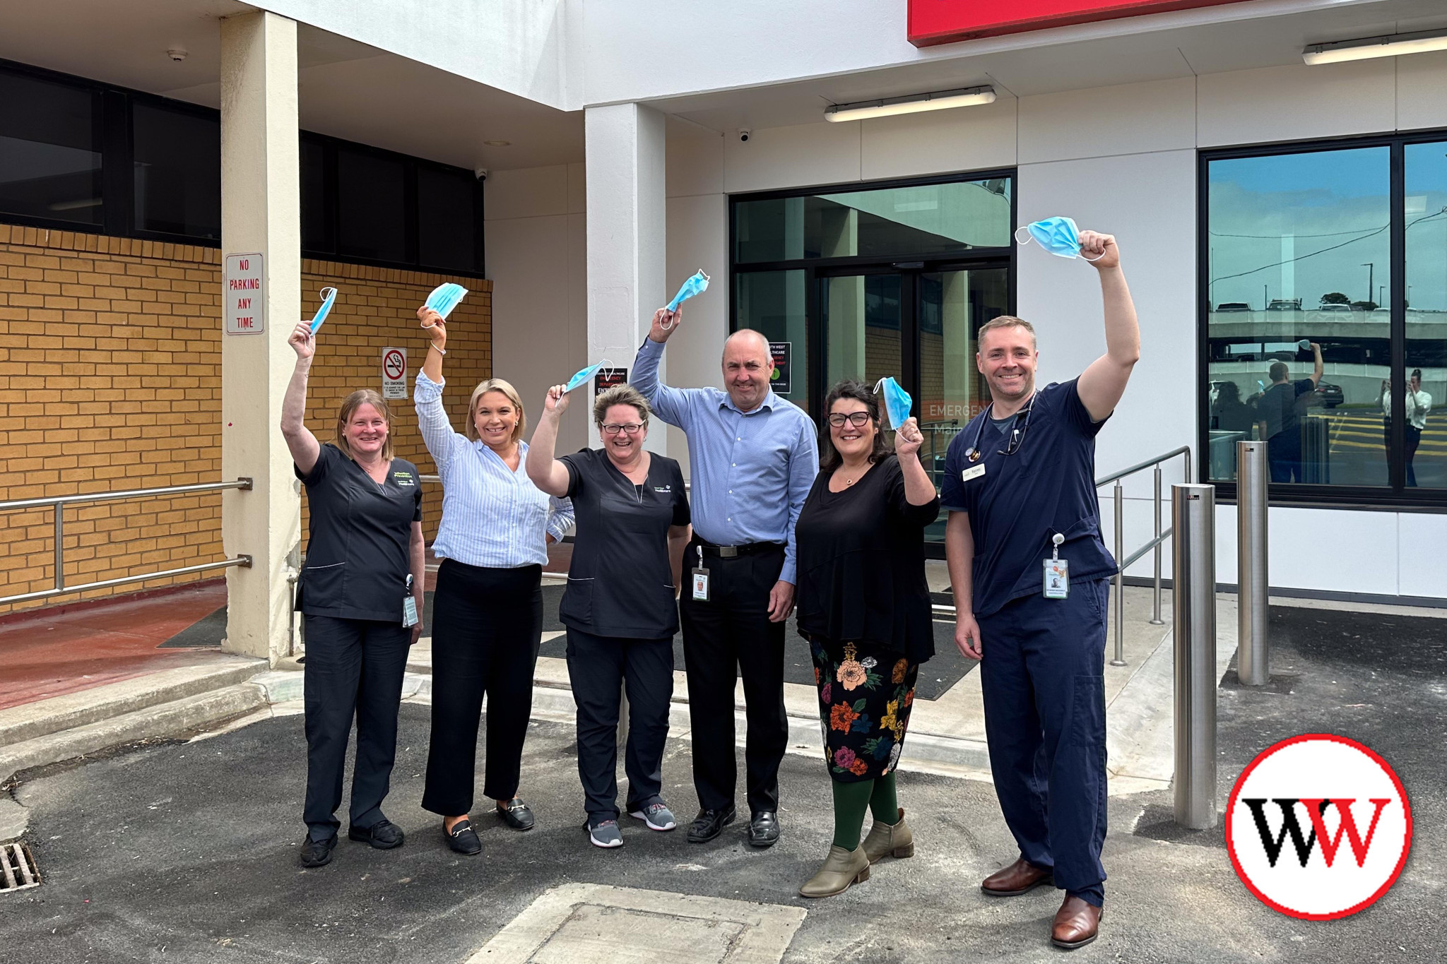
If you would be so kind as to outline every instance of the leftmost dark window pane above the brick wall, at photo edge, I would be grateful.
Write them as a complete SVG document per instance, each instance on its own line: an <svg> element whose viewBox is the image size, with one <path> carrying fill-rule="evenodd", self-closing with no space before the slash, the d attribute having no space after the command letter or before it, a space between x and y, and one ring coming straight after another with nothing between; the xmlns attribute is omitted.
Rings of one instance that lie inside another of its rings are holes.
<svg viewBox="0 0 1447 964"><path fill-rule="evenodd" d="M0 211L101 223L98 94L0 74Z"/></svg>

